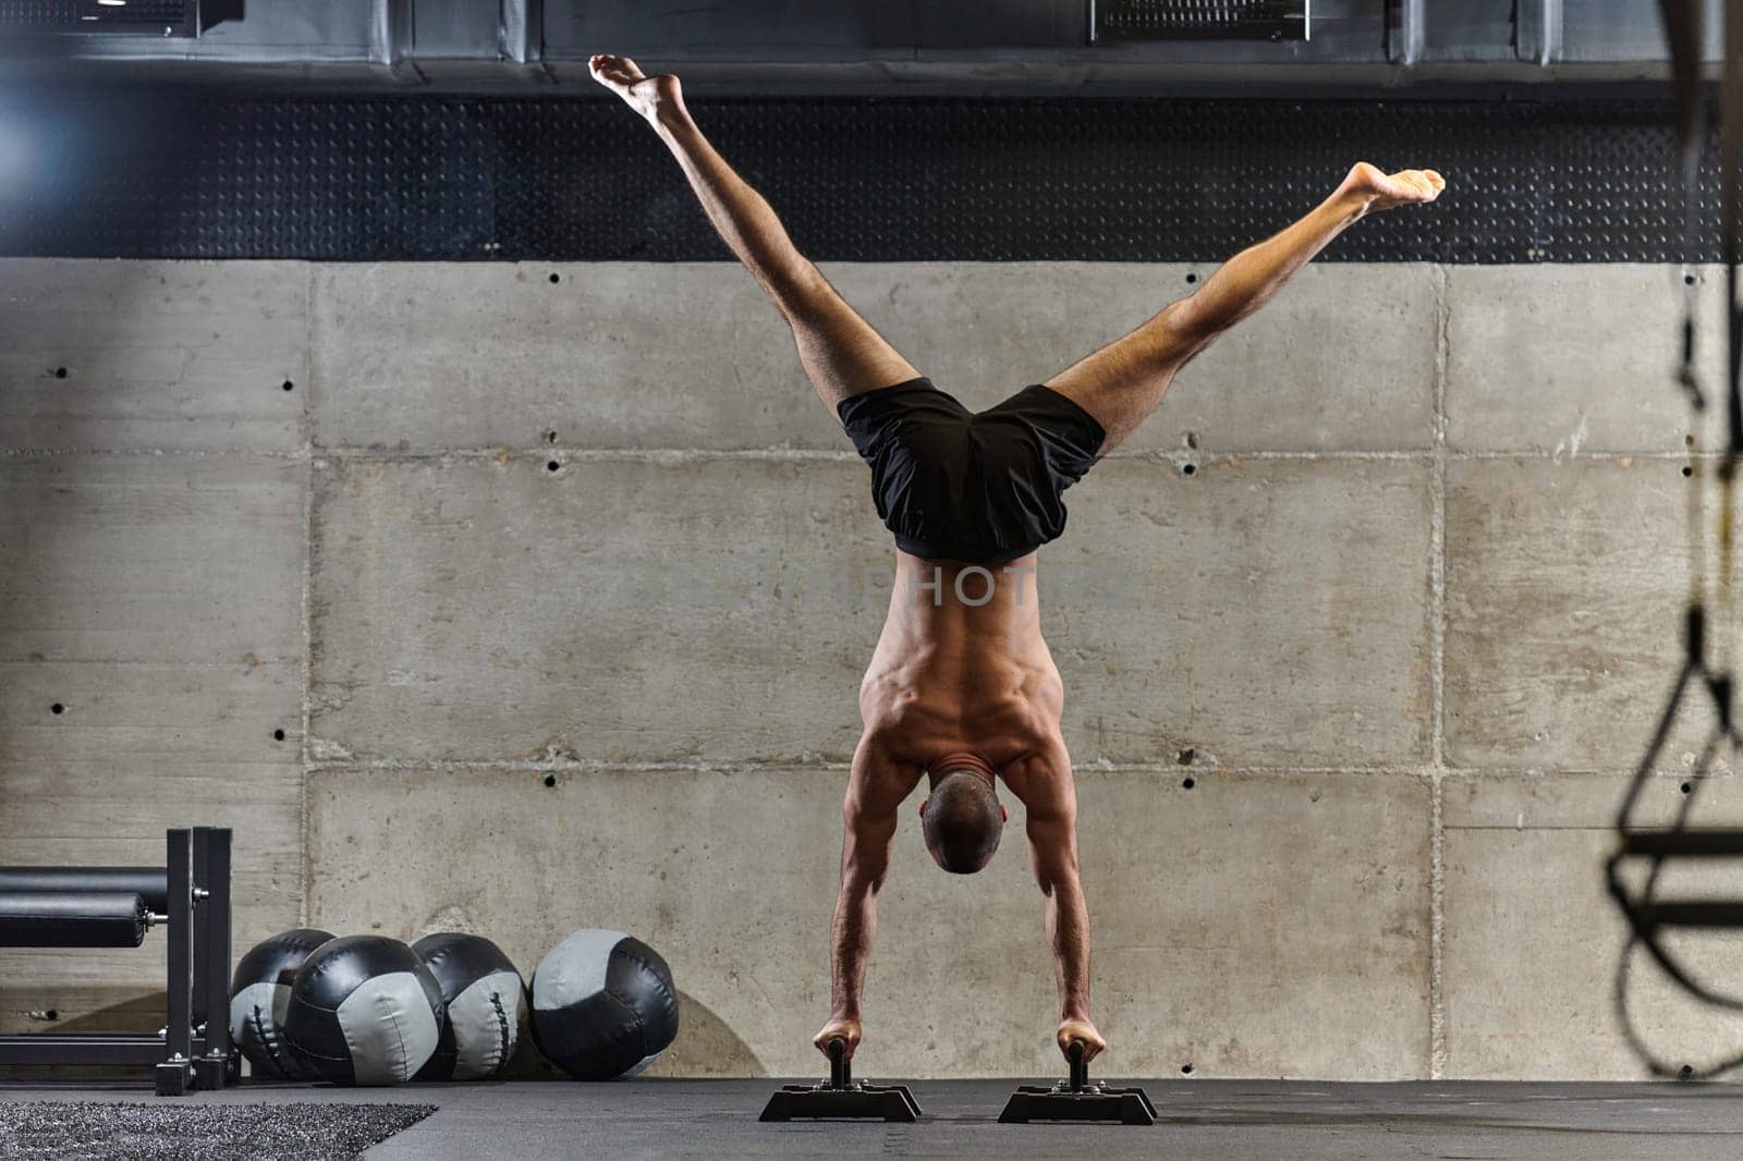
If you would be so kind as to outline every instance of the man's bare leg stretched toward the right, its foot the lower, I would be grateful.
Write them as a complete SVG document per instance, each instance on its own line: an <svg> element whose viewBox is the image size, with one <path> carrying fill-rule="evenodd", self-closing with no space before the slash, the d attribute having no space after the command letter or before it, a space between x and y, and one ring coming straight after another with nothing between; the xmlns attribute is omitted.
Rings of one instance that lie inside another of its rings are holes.
<svg viewBox="0 0 1743 1161"><path fill-rule="evenodd" d="M1271 296L1363 214L1431 202L1447 187L1433 169L1384 174L1356 166L1325 202L1281 234L1243 249L1190 298L1046 382L1102 422L1112 452L1163 401L1175 373Z"/></svg>

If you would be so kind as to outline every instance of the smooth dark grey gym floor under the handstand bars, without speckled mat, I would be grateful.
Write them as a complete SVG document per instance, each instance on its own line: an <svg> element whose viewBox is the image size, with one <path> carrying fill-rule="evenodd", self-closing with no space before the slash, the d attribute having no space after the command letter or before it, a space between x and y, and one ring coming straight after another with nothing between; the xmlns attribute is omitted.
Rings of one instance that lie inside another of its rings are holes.
<svg viewBox="0 0 1743 1161"><path fill-rule="evenodd" d="M448 1158L720 1161L824 1156L950 1158L952 1161L1086 1156L1096 1161L1122 1158L1699 1161L1743 1156L1743 1086L1733 1084L1149 1081L1150 1098L1161 1114L1159 1123L1149 1128L997 1124L999 1109L1014 1081L910 1081L915 1098L926 1110L919 1124L821 1121L760 1124L756 1114L776 1084L776 1081L617 1084L526 1081L415 1084L397 1090L261 1084L195 1095L180 1102L159 1100L139 1088L38 1084L0 1086L0 1103L124 1100L188 1110L209 1105L309 1102L436 1105L436 1112L429 1117L363 1152L368 1161L413 1158L418 1161Z"/></svg>

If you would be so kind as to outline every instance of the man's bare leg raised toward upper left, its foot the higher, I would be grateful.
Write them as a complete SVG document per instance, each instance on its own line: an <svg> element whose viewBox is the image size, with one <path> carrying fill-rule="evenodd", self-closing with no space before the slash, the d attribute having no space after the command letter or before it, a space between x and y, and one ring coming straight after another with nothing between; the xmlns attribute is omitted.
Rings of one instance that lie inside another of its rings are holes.
<svg viewBox="0 0 1743 1161"><path fill-rule="evenodd" d="M769 202L715 152L690 120L676 77L645 77L626 56L594 56L589 68L594 80L641 113L678 159L722 241L793 328L798 361L830 411L849 396L920 375L835 293L793 246Z"/></svg>

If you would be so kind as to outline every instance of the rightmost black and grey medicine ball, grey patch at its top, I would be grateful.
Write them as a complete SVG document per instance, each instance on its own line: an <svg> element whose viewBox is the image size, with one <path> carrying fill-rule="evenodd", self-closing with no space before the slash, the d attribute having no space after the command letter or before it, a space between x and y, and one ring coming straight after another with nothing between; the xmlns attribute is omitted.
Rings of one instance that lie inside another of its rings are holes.
<svg viewBox="0 0 1743 1161"><path fill-rule="evenodd" d="M671 968L641 940L586 927L533 971L533 1041L577 1081L634 1076L678 1035Z"/></svg>

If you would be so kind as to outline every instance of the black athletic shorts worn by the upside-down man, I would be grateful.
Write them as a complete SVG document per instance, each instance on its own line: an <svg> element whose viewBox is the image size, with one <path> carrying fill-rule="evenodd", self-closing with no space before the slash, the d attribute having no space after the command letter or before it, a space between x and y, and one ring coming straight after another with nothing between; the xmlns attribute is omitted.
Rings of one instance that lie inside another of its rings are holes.
<svg viewBox="0 0 1743 1161"><path fill-rule="evenodd" d="M1060 493L1107 438L1041 384L974 413L922 375L842 399L837 411L872 465L872 497L896 547L973 565L1002 565L1065 532Z"/></svg>

